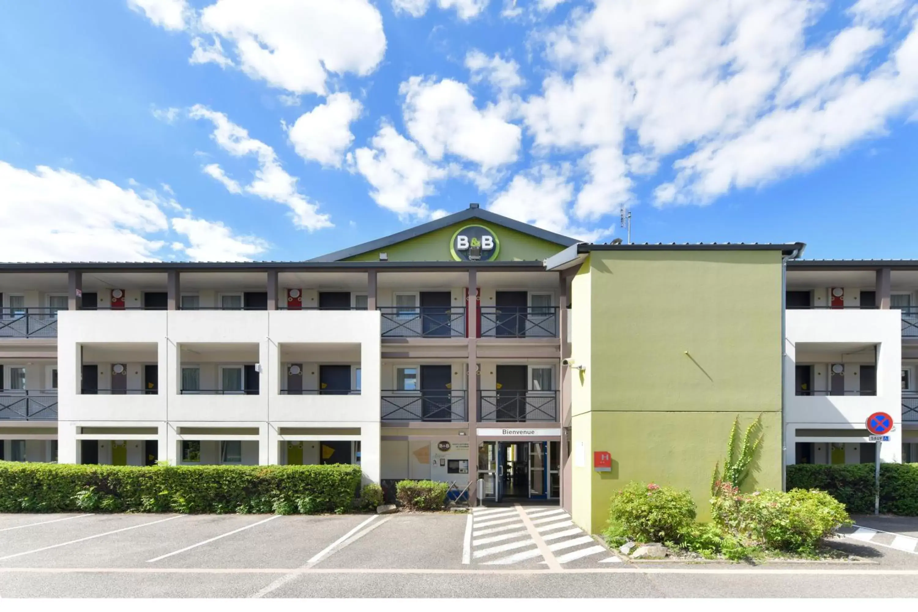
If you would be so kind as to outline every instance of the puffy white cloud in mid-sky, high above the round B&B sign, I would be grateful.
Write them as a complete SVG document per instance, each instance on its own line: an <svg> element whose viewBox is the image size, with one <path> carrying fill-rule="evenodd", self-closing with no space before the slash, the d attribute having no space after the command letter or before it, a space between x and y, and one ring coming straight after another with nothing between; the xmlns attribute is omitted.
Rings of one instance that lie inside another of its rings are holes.
<svg viewBox="0 0 918 612"><path fill-rule="evenodd" d="M485 168L516 161L521 129L503 117L505 110L489 105L482 110L465 83L439 83L411 77L399 90L405 95L405 125L431 160L447 153Z"/></svg>

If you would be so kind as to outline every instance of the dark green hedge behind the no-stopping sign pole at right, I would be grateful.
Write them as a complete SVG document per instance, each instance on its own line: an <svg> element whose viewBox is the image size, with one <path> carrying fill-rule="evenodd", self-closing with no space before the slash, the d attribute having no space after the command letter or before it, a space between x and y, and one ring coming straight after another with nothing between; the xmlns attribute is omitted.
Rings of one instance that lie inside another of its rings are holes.
<svg viewBox="0 0 918 612"><path fill-rule="evenodd" d="M848 512L868 514L874 509L874 470L872 463L789 465L788 490L822 489L845 504ZM879 511L918 516L918 463L880 464Z"/></svg>

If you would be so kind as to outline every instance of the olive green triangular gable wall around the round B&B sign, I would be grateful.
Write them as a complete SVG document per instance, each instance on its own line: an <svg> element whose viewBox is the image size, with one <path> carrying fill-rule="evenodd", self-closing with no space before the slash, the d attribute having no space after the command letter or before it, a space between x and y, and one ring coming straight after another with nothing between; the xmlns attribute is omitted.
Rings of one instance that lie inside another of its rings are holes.
<svg viewBox="0 0 918 612"><path fill-rule="evenodd" d="M446 228L435 229L427 234L397 242L383 249L377 249L354 255L344 261L378 261L379 251L388 255L388 261L453 261L450 254L450 240L460 228L468 225L480 225L490 229L500 242L496 261L542 261L554 255L565 246L538 239L529 234L504 228L494 223L479 219L469 219Z"/></svg>

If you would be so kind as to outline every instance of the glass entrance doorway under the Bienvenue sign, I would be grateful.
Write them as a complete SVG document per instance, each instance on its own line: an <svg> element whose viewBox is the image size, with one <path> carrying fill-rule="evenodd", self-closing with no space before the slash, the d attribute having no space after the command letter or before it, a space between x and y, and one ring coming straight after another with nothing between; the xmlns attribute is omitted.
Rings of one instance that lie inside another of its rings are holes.
<svg viewBox="0 0 918 612"><path fill-rule="evenodd" d="M484 480L485 499L557 499L560 493L557 455L560 444L541 442L481 442L478 478Z"/></svg>

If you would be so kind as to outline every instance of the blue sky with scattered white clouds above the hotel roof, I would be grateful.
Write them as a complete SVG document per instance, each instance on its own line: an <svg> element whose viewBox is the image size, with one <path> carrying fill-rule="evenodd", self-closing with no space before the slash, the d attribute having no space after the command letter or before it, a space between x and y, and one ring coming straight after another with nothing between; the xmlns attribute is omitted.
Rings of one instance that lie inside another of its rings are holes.
<svg viewBox="0 0 918 612"><path fill-rule="evenodd" d="M469 202L918 257L907 0L87 6L5 6L0 260L302 260Z"/></svg>

